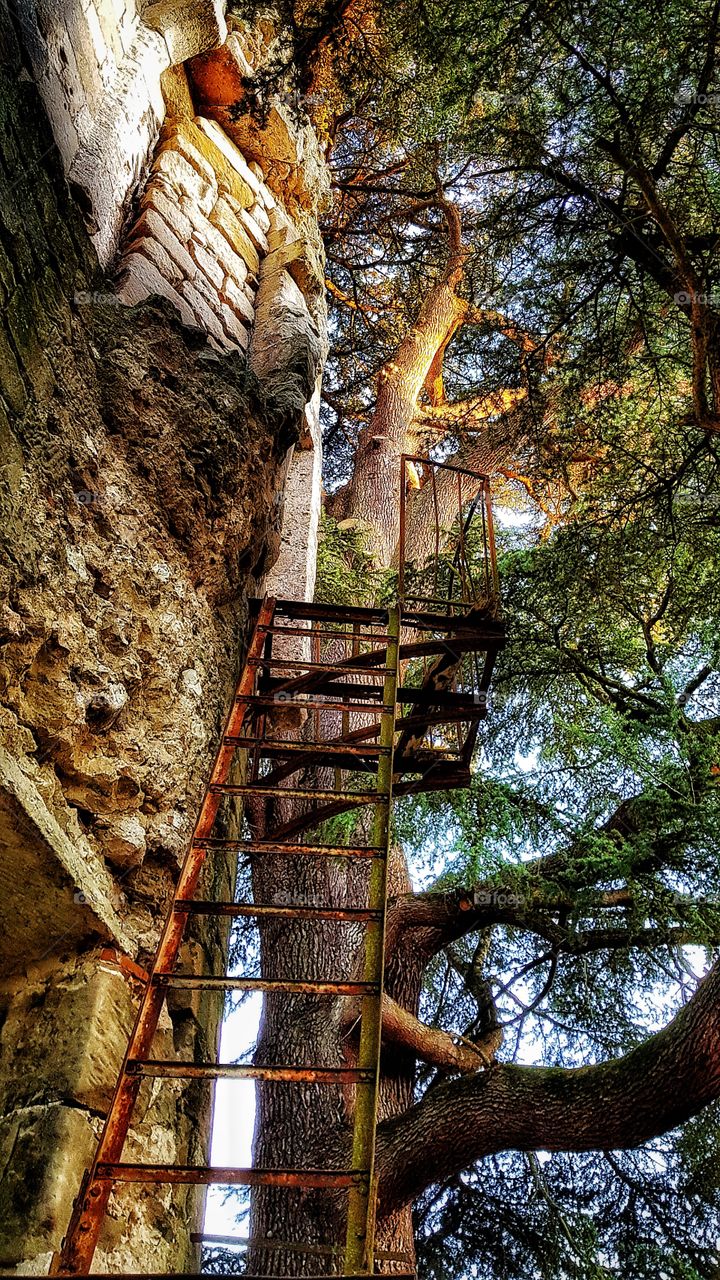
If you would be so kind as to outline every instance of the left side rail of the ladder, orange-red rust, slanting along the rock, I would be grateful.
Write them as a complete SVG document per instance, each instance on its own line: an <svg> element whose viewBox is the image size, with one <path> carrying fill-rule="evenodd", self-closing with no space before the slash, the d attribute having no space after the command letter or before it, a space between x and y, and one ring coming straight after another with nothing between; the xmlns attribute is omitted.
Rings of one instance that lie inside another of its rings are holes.
<svg viewBox="0 0 720 1280"><path fill-rule="evenodd" d="M247 657L255 657L259 653L264 643L264 631L260 628L263 623L272 622L274 604L275 602L273 598L266 598L260 605L258 622L255 623L250 639ZM240 677L236 696L233 698L231 705L225 728L215 754L210 774L211 780L219 781L222 778L227 778L233 756L233 748L225 746L223 739L233 736L240 731L246 710L243 695L252 691L254 681L254 669L246 660ZM197 844L197 841L210 835L220 806L220 795L211 794L210 787L208 787L176 887L176 899L191 899L197 888L205 861L205 850L201 844ZM186 916L176 913L170 908L165 916L165 923L163 925L151 972L158 969L169 970L174 966L182 943L184 927ZM90 1271L92 1265L97 1238L100 1235L102 1219L105 1216L111 1190L110 1184L100 1184L97 1181L97 1165L102 1162L115 1162L120 1158L129 1128L132 1110L141 1083L138 1076L131 1076L127 1074L127 1062L131 1059L146 1057L150 1052L150 1046L158 1028L158 1020L160 1018L164 998L165 992L161 987L155 986L152 982L146 986L126 1050L118 1082L115 1084L110 1108L105 1119L97 1151L88 1171L87 1181L83 1181L81 1193L73 1206L73 1213L70 1216L63 1247L59 1254L55 1254L53 1260L51 1270L55 1272L63 1271L67 1275L85 1275Z"/></svg>

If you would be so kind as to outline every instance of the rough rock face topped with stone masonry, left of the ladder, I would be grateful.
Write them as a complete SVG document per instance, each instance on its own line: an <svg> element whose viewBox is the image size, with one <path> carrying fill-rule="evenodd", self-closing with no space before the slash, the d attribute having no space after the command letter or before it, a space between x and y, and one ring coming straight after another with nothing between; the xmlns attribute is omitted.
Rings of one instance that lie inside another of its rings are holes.
<svg viewBox="0 0 720 1280"><path fill-rule="evenodd" d="M0 0L3 1272L46 1270L65 1230L247 599L311 591L327 340L300 179L283 202L261 146L238 150L177 65L224 40L218 6L20 10ZM129 106L118 123L126 99L151 104L147 128ZM225 893L233 870L213 869ZM186 968L223 945L191 932ZM174 998L164 1051L208 1056L220 1014ZM126 1158L202 1158L209 1114L204 1087L147 1083ZM200 1212L192 1189L124 1190L96 1266L192 1267Z"/></svg>

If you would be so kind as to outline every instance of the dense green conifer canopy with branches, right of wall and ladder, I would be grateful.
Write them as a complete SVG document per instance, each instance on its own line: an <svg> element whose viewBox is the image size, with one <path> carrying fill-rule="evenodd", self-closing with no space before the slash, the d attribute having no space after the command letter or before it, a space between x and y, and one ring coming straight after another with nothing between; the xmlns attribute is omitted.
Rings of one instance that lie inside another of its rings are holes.
<svg viewBox="0 0 720 1280"><path fill-rule="evenodd" d="M319 591L387 589L377 453L460 457L493 476L509 635L471 786L397 814L419 1016L500 1025L501 1065L420 1062L387 1203L433 1124L432 1184L402 1184L424 1276L711 1280L717 977L688 1002L720 948L720 3L284 22L333 174ZM601 1064L587 1098L553 1074Z"/></svg>

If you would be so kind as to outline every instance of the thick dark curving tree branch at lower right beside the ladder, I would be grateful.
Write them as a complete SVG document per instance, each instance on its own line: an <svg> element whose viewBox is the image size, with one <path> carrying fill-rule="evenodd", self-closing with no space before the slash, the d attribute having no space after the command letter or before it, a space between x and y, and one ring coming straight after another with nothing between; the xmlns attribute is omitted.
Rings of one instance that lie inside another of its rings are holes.
<svg viewBox="0 0 720 1280"><path fill-rule="evenodd" d="M720 1097L720 965L625 1057L574 1070L497 1066L437 1085L378 1130L379 1213L498 1151L612 1151Z"/></svg>

